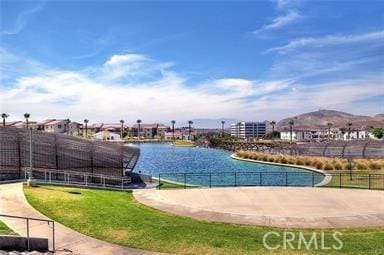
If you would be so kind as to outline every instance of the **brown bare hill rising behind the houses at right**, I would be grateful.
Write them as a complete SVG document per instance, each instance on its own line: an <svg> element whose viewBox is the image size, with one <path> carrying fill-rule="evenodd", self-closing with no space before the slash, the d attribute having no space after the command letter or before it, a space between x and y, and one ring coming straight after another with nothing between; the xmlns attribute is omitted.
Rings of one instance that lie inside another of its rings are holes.
<svg viewBox="0 0 384 255"><path fill-rule="evenodd" d="M352 128L384 128L384 114L377 114L373 117L353 115L346 112L334 110L318 110L316 112L303 113L290 118L282 119L276 125L278 130L289 128L288 122L294 121L296 128L325 127L327 123L332 123L332 127L346 127L348 122L352 123Z"/></svg>

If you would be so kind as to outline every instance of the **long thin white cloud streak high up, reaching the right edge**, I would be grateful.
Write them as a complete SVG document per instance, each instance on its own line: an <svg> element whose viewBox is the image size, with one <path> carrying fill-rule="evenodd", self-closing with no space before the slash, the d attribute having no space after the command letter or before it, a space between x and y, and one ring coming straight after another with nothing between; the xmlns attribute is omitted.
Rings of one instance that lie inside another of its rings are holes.
<svg viewBox="0 0 384 255"><path fill-rule="evenodd" d="M286 53L303 47L324 47L330 45L352 44L362 42L379 42L384 44L384 30L356 35L326 35L323 37L306 37L290 41L288 44L280 47L268 49L266 52Z"/></svg>

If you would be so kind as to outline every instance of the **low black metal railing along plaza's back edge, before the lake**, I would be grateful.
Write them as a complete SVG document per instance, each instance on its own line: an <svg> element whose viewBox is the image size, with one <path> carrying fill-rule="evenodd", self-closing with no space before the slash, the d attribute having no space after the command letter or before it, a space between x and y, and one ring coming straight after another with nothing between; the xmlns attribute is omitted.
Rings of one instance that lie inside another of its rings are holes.
<svg viewBox="0 0 384 255"><path fill-rule="evenodd" d="M161 173L158 188L283 186L384 190L384 174L316 172Z"/></svg>

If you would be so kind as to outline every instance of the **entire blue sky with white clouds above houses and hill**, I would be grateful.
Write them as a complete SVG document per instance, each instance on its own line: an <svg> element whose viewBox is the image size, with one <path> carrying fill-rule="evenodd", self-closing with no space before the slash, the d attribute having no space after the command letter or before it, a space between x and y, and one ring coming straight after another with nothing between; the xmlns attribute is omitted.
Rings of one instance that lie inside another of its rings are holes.
<svg viewBox="0 0 384 255"><path fill-rule="evenodd" d="M0 1L0 11L10 119L384 112L380 1Z"/></svg>

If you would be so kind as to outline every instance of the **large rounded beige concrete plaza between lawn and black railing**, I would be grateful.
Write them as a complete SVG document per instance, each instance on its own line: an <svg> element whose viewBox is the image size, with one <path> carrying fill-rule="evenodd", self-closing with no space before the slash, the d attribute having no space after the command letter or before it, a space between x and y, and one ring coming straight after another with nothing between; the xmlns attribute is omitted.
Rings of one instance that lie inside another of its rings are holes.
<svg viewBox="0 0 384 255"><path fill-rule="evenodd" d="M237 187L133 194L148 206L209 221L293 228L384 227L384 191Z"/></svg>

